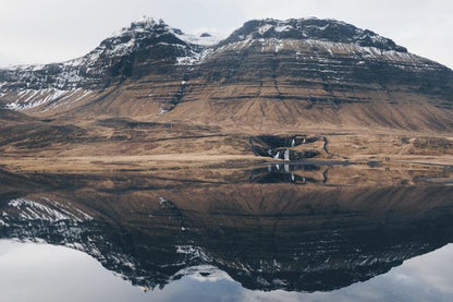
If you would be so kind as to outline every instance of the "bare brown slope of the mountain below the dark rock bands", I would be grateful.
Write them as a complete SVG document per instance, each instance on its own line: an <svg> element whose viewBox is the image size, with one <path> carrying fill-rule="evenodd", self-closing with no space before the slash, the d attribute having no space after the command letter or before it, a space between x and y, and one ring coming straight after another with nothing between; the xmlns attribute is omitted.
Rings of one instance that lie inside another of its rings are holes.
<svg viewBox="0 0 453 302"><path fill-rule="evenodd" d="M173 85L174 84L174 85ZM335 102L330 100L304 100L295 96L320 97L326 90L307 90L287 87L280 95L257 86L198 84L187 88L174 109L161 114L166 101L177 92L177 83L162 87L146 87L130 83L108 92L94 93L89 97L50 110L38 107L28 114L74 120L96 120L108 117L127 117L142 121L184 122L220 126L250 133L279 133L285 131L362 131L388 130L416 132L449 132L453 129L453 111L442 108L424 95L411 93L385 94L379 90L350 92L348 98L366 98L366 101ZM269 88L271 89L271 88ZM395 87L397 89L397 87ZM159 90L149 96L149 90ZM287 94L285 96L285 94ZM166 98L164 95L169 97ZM339 96L344 98L343 96Z"/></svg>

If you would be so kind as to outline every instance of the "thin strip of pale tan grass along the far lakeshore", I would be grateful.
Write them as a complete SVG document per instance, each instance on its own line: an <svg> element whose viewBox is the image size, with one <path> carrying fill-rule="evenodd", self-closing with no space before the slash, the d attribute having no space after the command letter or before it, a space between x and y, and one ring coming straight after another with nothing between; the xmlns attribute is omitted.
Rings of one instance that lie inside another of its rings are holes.
<svg viewBox="0 0 453 302"><path fill-rule="evenodd" d="M299 161L276 160L253 155L168 154L140 156L34 157L3 156L0 169L19 173L110 173L158 172L191 169L245 169L269 165L280 166L367 166L370 168L429 167L453 170L453 156L400 156L391 160L356 158L347 160L311 158Z"/></svg>

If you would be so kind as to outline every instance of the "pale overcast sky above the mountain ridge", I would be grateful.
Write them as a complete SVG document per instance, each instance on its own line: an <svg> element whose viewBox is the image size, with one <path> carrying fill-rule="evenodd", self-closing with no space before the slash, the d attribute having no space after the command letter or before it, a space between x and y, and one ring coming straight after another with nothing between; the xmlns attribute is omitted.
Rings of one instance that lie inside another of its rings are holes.
<svg viewBox="0 0 453 302"><path fill-rule="evenodd" d="M336 19L453 68L451 0L0 0L0 65L81 57L143 15L224 34L252 19Z"/></svg>

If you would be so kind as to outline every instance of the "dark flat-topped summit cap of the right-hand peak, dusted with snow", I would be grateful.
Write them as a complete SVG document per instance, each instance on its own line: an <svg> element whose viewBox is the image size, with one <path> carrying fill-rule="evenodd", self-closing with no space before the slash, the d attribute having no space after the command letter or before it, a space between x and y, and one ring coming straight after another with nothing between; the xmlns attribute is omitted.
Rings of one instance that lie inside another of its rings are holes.
<svg viewBox="0 0 453 302"><path fill-rule="evenodd" d="M382 50L407 52L407 49L393 40L369 29L332 19L289 19L252 20L236 29L222 45L247 39L314 39L344 44L357 44L362 47L375 47Z"/></svg>

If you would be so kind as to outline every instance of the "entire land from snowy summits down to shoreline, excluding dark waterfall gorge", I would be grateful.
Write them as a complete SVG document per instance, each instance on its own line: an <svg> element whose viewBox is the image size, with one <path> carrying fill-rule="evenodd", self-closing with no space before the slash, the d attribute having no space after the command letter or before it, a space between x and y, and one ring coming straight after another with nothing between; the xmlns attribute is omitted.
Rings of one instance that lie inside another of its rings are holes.
<svg viewBox="0 0 453 302"><path fill-rule="evenodd" d="M0 70L0 147L5 165L235 160L250 136L321 135L335 152L305 152L453 162L452 101L452 70L344 22L255 20L219 40L144 19L82 58Z"/></svg>

